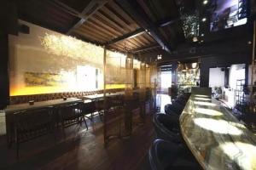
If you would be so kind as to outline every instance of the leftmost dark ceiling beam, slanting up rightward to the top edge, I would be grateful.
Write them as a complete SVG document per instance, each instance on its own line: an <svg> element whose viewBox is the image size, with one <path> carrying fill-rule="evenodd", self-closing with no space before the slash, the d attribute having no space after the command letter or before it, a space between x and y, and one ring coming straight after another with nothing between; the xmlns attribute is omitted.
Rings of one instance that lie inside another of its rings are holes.
<svg viewBox="0 0 256 170"><path fill-rule="evenodd" d="M82 26L86 20L90 18L92 14L95 14L96 11L102 6L104 6L106 3L108 3L109 0L91 0L90 3L84 8L81 14L79 14L81 19L79 22L77 22L72 28L70 28L69 31L67 31L67 34L70 34L74 29L78 28L79 26Z"/></svg>

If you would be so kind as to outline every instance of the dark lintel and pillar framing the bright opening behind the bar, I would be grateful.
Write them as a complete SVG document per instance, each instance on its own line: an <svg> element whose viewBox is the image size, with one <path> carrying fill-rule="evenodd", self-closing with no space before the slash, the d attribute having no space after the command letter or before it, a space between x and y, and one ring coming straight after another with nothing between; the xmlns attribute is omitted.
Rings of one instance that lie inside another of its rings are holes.
<svg viewBox="0 0 256 170"><path fill-rule="evenodd" d="M209 86L209 69L212 67L227 67L227 66L236 65L236 64L248 65L250 63L251 63L251 55L249 53L216 55L212 57L202 58L200 86L201 87Z"/></svg>

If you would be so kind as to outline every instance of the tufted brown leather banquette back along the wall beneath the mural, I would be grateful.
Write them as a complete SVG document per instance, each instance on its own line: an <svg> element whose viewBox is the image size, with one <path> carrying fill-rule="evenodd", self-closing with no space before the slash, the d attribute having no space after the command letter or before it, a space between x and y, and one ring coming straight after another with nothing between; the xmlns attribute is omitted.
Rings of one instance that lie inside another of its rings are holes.
<svg viewBox="0 0 256 170"><path fill-rule="evenodd" d="M107 93L116 93L124 91L124 88L115 88L106 90ZM10 96L10 105L27 103L28 101L34 100L46 101L51 99L62 99L63 97L67 98L78 98L83 99L83 96L92 95L92 94L103 94L103 90L88 91L88 92L62 92L62 93L53 93L53 94L31 94L31 95L19 95L19 96Z"/></svg>

